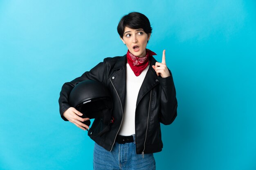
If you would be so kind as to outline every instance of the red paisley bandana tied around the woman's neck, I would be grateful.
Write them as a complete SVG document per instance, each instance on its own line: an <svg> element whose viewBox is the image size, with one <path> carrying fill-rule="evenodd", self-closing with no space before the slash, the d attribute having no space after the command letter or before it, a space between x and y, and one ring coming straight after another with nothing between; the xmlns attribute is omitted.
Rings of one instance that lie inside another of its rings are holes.
<svg viewBox="0 0 256 170"><path fill-rule="evenodd" d="M129 50L127 51L127 62L130 65L130 68L134 72L135 76L139 76L139 74L141 74L141 72L148 66L148 58L153 55L157 54L149 49L146 49L145 57L137 57L130 53Z"/></svg>

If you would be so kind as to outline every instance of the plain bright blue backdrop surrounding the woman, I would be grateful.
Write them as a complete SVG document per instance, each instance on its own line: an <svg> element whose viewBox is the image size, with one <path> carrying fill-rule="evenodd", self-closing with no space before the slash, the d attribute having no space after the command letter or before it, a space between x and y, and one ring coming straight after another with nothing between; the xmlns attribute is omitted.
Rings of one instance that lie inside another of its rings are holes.
<svg viewBox="0 0 256 170"><path fill-rule="evenodd" d="M0 0L0 169L92 169L94 142L61 119L59 92L126 53L116 28L132 11L177 91L157 170L256 169L254 0Z"/></svg>

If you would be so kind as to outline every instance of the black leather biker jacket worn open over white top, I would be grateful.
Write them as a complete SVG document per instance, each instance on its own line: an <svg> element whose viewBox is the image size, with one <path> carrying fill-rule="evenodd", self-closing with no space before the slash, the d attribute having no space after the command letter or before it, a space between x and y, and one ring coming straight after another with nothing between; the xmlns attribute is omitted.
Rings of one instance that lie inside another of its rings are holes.
<svg viewBox="0 0 256 170"><path fill-rule="evenodd" d="M158 77L152 65L156 60L150 57L150 67L139 90L135 111L135 134L137 154L156 153L162 150L160 122L171 124L177 116L177 99L172 75L166 78ZM67 110L68 96L72 88L84 80L96 80L103 83L111 92L113 100L112 116L115 122L111 130L101 136L101 120L95 119L88 135L106 150L112 150L117 133L123 121L126 98L126 55L106 58L89 72L71 82L65 83L61 89L59 105L62 116ZM170 71L170 70L169 70ZM170 72L171 73L171 72Z"/></svg>

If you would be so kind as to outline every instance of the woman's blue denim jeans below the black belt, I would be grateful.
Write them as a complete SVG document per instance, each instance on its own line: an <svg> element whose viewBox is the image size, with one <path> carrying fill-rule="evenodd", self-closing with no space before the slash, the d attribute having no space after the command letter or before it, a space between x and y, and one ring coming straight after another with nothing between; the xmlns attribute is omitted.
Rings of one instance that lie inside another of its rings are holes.
<svg viewBox="0 0 256 170"><path fill-rule="evenodd" d="M155 170L153 153L136 154L135 135L134 142L118 144L115 142L109 152L95 143L93 153L94 170Z"/></svg>

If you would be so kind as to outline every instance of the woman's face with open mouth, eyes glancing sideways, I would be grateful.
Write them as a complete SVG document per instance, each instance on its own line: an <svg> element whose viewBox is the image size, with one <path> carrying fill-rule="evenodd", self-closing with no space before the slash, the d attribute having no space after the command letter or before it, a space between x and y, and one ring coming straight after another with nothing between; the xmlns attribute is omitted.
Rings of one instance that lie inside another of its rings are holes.
<svg viewBox="0 0 256 170"><path fill-rule="evenodd" d="M124 28L124 37L121 38L128 50L137 57L146 56L146 46L149 39L150 34L146 34L142 28L132 29L128 27Z"/></svg>

